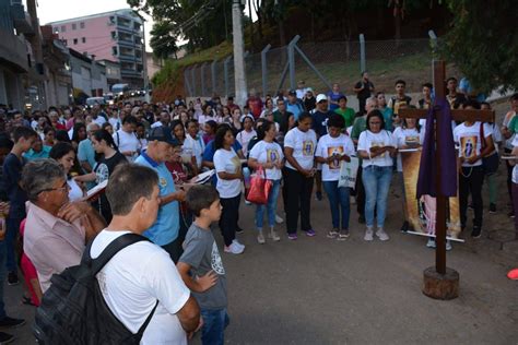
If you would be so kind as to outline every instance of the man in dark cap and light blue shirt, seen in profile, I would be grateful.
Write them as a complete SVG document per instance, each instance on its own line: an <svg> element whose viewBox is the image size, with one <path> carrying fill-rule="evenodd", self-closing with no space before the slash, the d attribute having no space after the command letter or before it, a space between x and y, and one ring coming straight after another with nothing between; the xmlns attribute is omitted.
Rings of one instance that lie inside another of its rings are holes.
<svg viewBox="0 0 518 345"><path fill-rule="evenodd" d="M143 235L167 251L175 263L183 252L178 239L178 201L184 201L186 194L183 190L176 191L173 176L167 170L165 162L172 156L173 147L179 145L180 143L173 138L169 128L153 128L148 139L148 150L143 151L134 162L158 174L161 206L155 223Z"/></svg>

